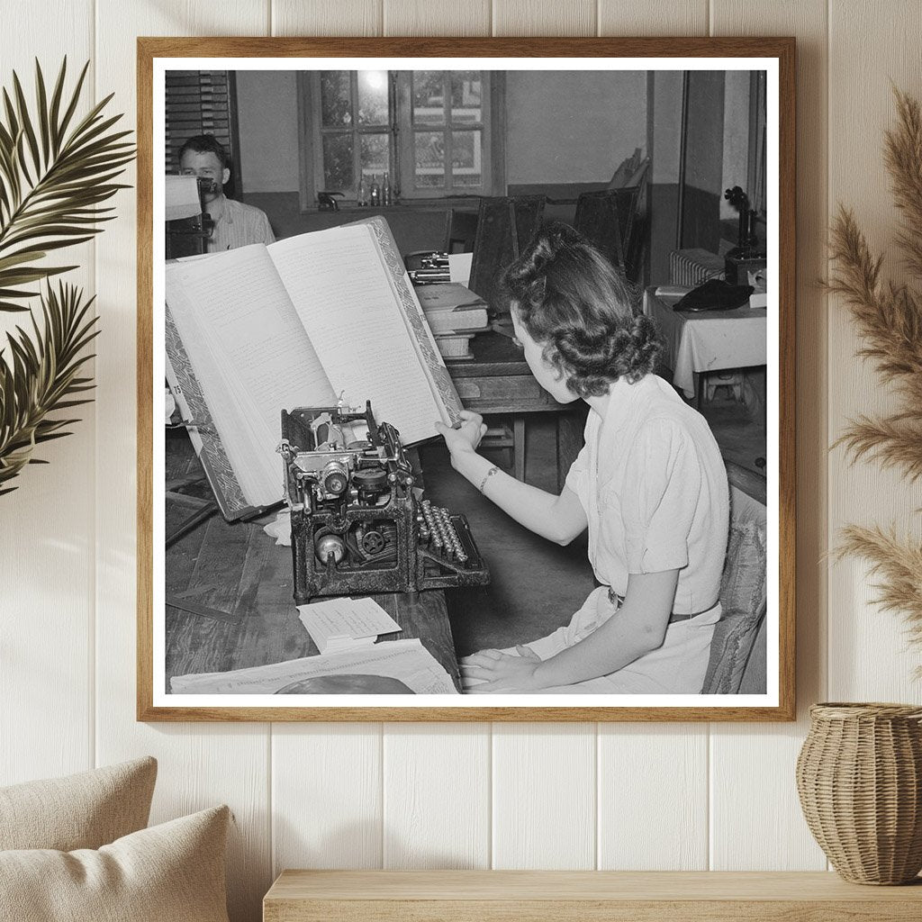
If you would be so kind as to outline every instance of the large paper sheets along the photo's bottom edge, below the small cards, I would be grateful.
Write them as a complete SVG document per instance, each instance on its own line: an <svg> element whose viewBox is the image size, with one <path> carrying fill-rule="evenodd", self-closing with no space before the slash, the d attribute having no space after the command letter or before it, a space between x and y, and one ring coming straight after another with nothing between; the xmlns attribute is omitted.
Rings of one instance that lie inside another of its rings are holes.
<svg viewBox="0 0 922 922"><path fill-rule="evenodd" d="M347 687L349 677L359 680L381 676L403 682L414 694L458 693L445 669L416 638L232 672L175 676L170 680L170 688L173 694L290 694L310 688L310 680L332 676L344 677L343 684ZM361 682L357 681L356 686L351 693L366 693Z"/></svg>

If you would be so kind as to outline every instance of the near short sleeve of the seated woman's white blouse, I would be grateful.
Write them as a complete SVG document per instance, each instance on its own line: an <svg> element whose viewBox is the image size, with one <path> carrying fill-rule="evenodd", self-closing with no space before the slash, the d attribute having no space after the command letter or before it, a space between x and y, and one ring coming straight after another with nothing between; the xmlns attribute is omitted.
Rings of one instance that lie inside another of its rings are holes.
<svg viewBox="0 0 922 922"><path fill-rule="evenodd" d="M689 536L703 486L691 437L675 420L649 420L627 457L621 490L629 573L688 566Z"/></svg>

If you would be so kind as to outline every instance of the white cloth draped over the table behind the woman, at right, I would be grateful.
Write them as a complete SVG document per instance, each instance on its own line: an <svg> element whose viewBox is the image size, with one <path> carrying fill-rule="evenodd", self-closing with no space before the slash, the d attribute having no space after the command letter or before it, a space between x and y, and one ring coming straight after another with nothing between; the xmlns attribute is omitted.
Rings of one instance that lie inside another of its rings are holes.
<svg viewBox="0 0 922 922"><path fill-rule="evenodd" d="M657 296L654 291L644 291L644 313L656 321L666 337L672 383L685 396L694 396L695 373L766 363L765 308L676 313L672 307L680 295Z"/></svg>

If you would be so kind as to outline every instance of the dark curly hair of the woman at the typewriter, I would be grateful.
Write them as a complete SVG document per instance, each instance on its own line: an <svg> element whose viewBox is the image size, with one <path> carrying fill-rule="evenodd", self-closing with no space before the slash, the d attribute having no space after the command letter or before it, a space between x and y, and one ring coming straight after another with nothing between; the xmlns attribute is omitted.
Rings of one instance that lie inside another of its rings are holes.
<svg viewBox="0 0 922 922"><path fill-rule="evenodd" d="M500 278L501 297L581 397L639 381L663 348L637 292L568 224L542 227Z"/></svg>

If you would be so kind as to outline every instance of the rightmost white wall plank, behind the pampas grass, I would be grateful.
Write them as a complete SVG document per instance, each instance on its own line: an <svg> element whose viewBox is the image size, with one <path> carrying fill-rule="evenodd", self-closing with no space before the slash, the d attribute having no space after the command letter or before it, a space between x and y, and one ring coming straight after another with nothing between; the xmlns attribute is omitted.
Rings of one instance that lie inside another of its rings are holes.
<svg viewBox="0 0 922 922"><path fill-rule="evenodd" d="M885 271L900 278L899 254L891 245L897 225L882 165L883 132L895 123L891 81L922 97L922 6L913 0L871 0L830 6L829 181L830 207L852 207L872 248L886 254ZM879 62L879 64L877 64ZM875 65L871 66L874 63ZM846 420L892 406L892 396L865 361L854 358L858 340L845 305L830 300L829 437ZM895 471L873 464L848 467L845 453L829 456L829 542L847 522L895 523L922 538L922 484L910 487ZM913 671L922 665L918 645L907 647L899 616L876 610L862 561L830 569L830 696L836 700L918 701Z"/></svg>

